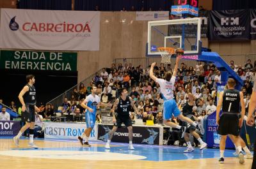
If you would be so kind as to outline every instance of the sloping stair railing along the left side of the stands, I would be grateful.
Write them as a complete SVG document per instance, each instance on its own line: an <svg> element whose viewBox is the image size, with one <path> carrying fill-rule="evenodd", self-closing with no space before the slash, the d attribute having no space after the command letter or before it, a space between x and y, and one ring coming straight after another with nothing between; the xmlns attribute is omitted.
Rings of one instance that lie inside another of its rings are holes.
<svg viewBox="0 0 256 169"><path fill-rule="evenodd" d="M99 75L100 75L100 72L101 72L101 71L102 71L102 69L99 70L99 71L97 71L97 72L95 72L95 73L99 73ZM67 91L63 92L63 94L60 94L59 96L57 96L57 97L54 98L54 99L51 99L50 101L48 101L48 102L46 103L46 105L47 105L47 104L51 104L51 105L53 105L53 107L54 107L54 111L58 110L58 107L60 107L60 106L62 105L62 103L64 102L64 98L68 98L68 100L70 100L74 88L76 88L77 91L79 91L78 88L79 88L79 85L80 85L81 83L83 83L84 86L87 87L87 86L90 84L90 82L92 81L92 79L95 77L95 73L93 73L92 75L90 75L90 77L84 79L84 80L83 80L82 82L80 82L79 84L74 85L73 87L71 87L71 88L68 89Z"/></svg>

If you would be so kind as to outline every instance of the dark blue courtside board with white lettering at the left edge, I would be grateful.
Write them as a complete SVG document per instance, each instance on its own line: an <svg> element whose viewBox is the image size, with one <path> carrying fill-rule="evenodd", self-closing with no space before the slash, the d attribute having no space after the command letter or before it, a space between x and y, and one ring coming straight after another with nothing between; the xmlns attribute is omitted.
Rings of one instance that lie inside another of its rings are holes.
<svg viewBox="0 0 256 169"><path fill-rule="evenodd" d="M15 136L20 131L20 121L0 121L0 136Z"/></svg>

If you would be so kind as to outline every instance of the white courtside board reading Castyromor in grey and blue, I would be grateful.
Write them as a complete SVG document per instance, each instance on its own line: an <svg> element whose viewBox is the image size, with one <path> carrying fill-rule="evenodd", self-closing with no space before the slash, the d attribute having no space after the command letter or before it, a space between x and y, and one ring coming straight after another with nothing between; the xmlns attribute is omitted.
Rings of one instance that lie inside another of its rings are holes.
<svg viewBox="0 0 256 169"><path fill-rule="evenodd" d="M86 129L85 123L45 122L44 138L77 140ZM89 140L97 140L98 125L95 124Z"/></svg>

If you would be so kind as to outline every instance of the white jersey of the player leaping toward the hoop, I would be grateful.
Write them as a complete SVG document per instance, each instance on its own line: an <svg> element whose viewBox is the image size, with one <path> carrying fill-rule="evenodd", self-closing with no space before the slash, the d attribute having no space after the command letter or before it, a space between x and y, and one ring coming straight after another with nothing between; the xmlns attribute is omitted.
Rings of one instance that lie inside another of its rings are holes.
<svg viewBox="0 0 256 169"><path fill-rule="evenodd" d="M157 78L156 82L159 83L160 85L160 91L161 94L163 95L164 101L173 99L173 89L174 89L174 84L175 84L175 79L176 77L171 78L170 82L162 79L162 78Z"/></svg>

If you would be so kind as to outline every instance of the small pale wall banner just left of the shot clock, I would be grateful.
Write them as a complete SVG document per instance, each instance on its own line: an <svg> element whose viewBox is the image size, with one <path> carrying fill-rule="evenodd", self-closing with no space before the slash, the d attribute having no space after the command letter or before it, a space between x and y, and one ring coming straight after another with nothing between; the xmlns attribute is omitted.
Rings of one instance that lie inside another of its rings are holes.
<svg viewBox="0 0 256 169"><path fill-rule="evenodd" d="M136 20L168 20L169 11L136 11Z"/></svg>

